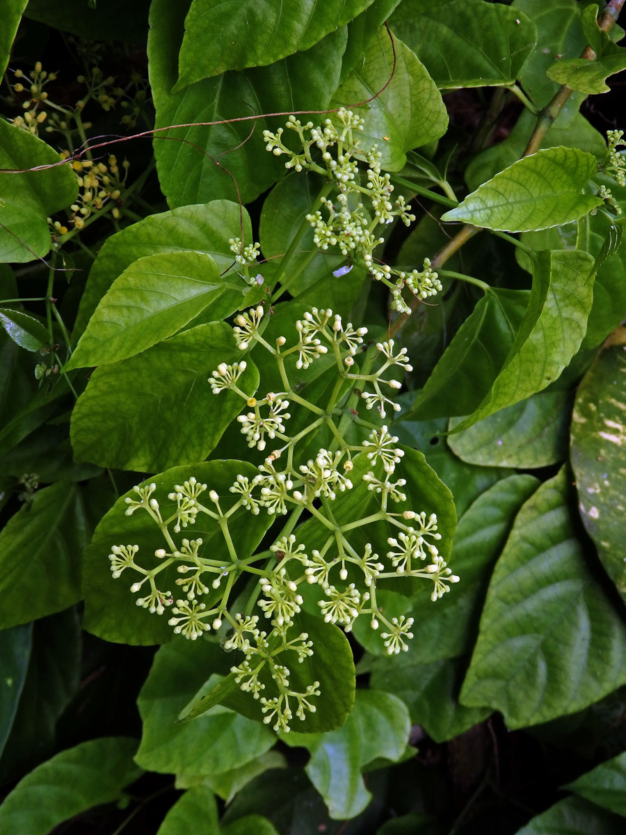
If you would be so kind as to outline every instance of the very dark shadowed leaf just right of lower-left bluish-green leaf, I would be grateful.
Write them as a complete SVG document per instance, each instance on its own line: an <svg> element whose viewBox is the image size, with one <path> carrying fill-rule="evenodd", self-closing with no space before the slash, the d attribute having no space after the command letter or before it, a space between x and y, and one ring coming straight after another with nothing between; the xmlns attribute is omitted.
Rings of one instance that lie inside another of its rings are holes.
<svg viewBox="0 0 626 835"><path fill-rule="evenodd" d="M36 620L32 630L31 650L25 658L26 681L0 757L2 782L28 772L56 750L58 720L80 685L82 646L77 608Z"/></svg>

